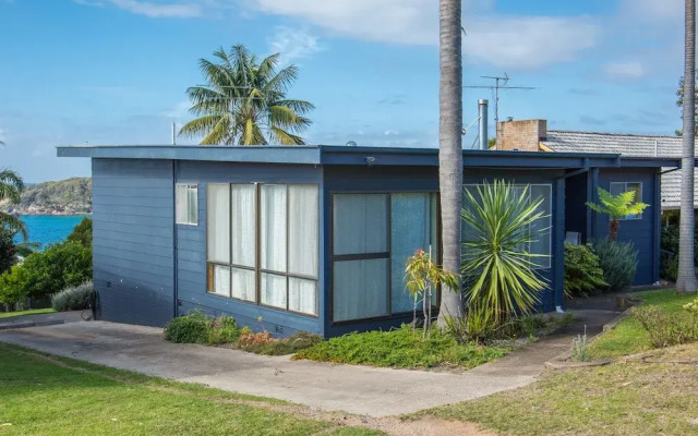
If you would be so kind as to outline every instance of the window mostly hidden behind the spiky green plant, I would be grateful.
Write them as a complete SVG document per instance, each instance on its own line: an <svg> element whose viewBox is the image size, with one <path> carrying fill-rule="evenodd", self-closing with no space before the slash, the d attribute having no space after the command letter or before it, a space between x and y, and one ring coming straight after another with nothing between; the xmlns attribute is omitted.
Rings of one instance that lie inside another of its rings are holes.
<svg viewBox="0 0 698 436"><path fill-rule="evenodd" d="M467 184L464 186L472 196L479 201L478 184ZM528 190L526 189L528 187ZM520 197L526 192L527 202L533 203L542 201L537 211L542 213L542 216L532 222L527 231L534 233L535 239L532 240L528 246L521 246L531 254L540 255L533 258L537 269L546 269L551 267L551 254L552 254L552 217L553 217L553 186L551 184L515 184L513 191L515 197ZM467 202L464 202L464 207L468 207ZM470 228L465 221L461 220L462 240L468 241L473 238L478 238L478 233Z"/></svg>

